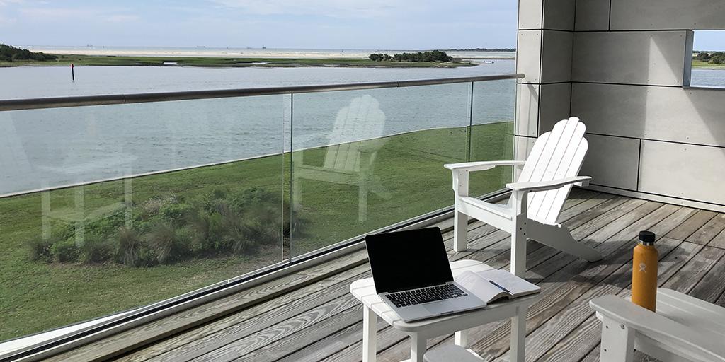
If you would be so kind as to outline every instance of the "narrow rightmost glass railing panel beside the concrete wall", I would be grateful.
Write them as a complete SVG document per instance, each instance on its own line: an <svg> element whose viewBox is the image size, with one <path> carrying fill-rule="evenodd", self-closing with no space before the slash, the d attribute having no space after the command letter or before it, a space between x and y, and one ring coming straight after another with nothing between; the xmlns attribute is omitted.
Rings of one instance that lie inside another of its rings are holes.
<svg viewBox="0 0 725 362"><path fill-rule="evenodd" d="M471 161L513 159L516 80L473 83ZM511 182L511 167L473 172L471 195L486 195Z"/></svg>

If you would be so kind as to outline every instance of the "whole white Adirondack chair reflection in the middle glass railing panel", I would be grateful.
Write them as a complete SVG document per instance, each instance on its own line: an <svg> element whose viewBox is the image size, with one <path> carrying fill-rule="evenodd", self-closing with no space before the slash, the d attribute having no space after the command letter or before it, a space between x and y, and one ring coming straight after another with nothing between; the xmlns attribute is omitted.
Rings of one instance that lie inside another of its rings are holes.
<svg viewBox="0 0 725 362"><path fill-rule="evenodd" d="M381 198L391 197L380 177L374 174L378 149L386 142L381 138L385 120L380 103L369 95L353 98L340 109L333 130L327 137L331 146L327 146L322 166L305 164L305 151L295 152L292 156L292 200L295 206L299 207L302 202L300 179L353 185L358 190L357 219L365 222L368 218L368 193L375 193ZM300 141L302 146L304 143L305 140Z"/></svg>

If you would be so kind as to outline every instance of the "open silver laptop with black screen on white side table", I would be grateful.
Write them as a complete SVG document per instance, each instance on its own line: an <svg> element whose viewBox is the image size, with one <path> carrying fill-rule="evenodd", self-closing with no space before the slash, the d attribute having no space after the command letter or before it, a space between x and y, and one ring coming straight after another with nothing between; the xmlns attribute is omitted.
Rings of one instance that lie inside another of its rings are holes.
<svg viewBox="0 0 725 362"><path fill-rule="evenodd" d="M403 321L486 306L453 281L438 227L368 235L365 244L376 292Z"/></svg>

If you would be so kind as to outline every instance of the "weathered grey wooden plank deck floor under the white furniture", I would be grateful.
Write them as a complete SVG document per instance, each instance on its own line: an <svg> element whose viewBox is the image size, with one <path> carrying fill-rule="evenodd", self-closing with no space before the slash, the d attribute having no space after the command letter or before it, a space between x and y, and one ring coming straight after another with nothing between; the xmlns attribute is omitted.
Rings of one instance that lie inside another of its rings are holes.
<svg viewBox="0 0 725 362"><path fill-rule="evenodd" d="M600 323L588 302L629 292L639 230L661 237L660 286L725 306L725 214L574 190L560 222L605 258L590 264L529 242L526 277L542 298L527 316L526 361L598 361ZM440 225L449 250L451 225ZM508 268L507 233L475 222L468 237L468 251L450 252L451 260ZM360 361L363 312L349 285L369 276L365 251L352 253L51 361ZM508 361L509 331L508 323L472 329L471 348L487 361ZM428 348L445 343L452 335L428 340ZM378 324L378 361L405 360L409 348L405 334Z"/></svg>

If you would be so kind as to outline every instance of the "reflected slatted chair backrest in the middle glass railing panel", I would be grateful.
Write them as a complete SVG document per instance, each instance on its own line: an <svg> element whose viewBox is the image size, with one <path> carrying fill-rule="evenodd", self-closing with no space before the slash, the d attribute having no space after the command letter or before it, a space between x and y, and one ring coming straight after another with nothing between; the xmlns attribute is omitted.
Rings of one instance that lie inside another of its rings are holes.
<svg viewBox="0 0 725 362"><path fill-rule="evenodd" d="M353 98L337 113L323 167L344 171L360 171L363 142L383 134L385 114L377 99L364 95Z"/></svg>

